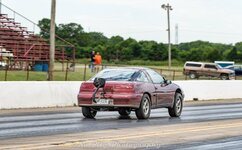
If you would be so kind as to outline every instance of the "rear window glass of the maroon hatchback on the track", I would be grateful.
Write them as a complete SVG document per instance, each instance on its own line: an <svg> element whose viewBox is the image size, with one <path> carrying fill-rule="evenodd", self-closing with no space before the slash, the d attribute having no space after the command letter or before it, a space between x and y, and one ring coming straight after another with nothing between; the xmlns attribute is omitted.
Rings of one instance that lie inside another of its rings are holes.
<svg viewBox="0 0 242 150"><path fill-rule="evenodd" d="M104 69L91 78L91 81L95 78L104 78L107 81L130 81L136 72L133 69Z"/></svg>

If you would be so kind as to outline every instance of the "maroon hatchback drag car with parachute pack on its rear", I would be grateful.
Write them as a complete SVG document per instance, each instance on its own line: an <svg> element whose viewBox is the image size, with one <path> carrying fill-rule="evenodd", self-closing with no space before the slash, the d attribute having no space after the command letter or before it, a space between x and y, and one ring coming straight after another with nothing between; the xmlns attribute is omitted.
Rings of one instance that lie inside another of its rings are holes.
<svg viewBox="0 0 242 150"><path fill-rule="evenodd" d="M129 116L135 111L138 119L147 119L153 108L168 108L171 117L182 113L182 89L149 68L104 69L83 82L78 105L86 118L97 111L118 111Z"/></svg>

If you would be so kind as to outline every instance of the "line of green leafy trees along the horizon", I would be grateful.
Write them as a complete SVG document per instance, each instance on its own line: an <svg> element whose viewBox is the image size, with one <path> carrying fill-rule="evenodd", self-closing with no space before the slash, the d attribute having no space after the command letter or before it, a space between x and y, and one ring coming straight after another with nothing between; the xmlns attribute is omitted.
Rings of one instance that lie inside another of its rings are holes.
<svg viewBox="0 0 242 150"><path fill-rule="evenodd" d="M38 23L43 30L40 36L49 39L50 20L43 18ZM107 61L152 60L166 61L168 45L156 41L137 41L121 36L108 38L101 32L85 32L77 23L56 25L56 34L76 47L76 58L89 58L92 50L99 51ZM57 43L61 41L57 39ZM232 44L192 41L172 45L172 59L177 61L216 60L242 62L242 42ZM67 53L70 51L67 50Z"/></svg>

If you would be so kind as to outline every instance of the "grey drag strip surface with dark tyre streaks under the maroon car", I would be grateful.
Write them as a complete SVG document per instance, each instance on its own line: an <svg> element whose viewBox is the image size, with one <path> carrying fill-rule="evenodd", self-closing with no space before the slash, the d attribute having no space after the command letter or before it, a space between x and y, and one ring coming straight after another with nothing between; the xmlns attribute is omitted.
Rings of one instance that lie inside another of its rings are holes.
<svg viewBox="0 0 242 150"><path fill-rule="evenodd" d="M149 120L132 112L98 112L85 119L79 108L0 111L0 149L242 149L242 100L186 102L180 118L167 109Z"/></svg>

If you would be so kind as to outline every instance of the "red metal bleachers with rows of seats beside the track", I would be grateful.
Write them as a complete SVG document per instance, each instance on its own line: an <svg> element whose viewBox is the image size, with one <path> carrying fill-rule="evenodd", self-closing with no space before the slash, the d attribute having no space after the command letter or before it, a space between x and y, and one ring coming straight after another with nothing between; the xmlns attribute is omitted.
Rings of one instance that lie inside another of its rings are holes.
<svg viewBox="0 0 242 150"><path fill-rule="evenodd" d="M62 40L62 39L61 39ZM12 53L7 60L11 69L26 68L36 62L49 62L50 44L27 27L15 21L8 14L0 14L0 47ZM72 49L73 54L67 56L65 49ZM74 62L75 48L73 45L56 46L55 59L59 62ZM0 61L3 59L0 57ZM6 61L6 60L5 60Z"/></svg>

